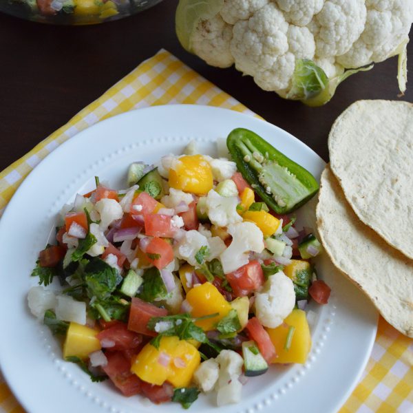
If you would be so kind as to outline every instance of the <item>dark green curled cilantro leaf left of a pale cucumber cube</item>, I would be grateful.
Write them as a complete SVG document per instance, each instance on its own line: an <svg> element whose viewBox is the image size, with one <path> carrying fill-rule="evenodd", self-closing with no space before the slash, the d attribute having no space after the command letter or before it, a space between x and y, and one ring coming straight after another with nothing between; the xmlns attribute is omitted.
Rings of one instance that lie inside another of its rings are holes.
<svg viewBox="0 0 413 413"><path fill-rule="evenodd" d="M85 282L89 298L107 299L120 284L122 277L100 258L93 258L85 266Z"/></svg>

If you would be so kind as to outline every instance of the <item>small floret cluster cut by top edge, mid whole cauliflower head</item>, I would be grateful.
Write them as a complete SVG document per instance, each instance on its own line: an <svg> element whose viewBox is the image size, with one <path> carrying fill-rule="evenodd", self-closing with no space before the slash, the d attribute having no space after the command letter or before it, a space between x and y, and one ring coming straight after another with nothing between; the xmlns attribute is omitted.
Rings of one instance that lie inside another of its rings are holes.
<svg viewBox="0 0 413 413"><path fill-rule="evenodd" d="M288 23L305 26L323 8L324 0L276 0Z"/></svg>

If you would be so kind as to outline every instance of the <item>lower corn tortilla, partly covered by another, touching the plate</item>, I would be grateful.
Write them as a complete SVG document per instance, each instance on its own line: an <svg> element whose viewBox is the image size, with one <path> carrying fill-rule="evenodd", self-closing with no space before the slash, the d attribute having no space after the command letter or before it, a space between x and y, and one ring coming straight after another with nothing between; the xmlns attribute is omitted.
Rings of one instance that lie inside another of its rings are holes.
<svg viewBox="0 0 413 413"><path fill-rule="evenodd" d="M333 264L371 299L394 328L413 337L413 260L363 224L327 166L321 175L317 228Z"/></svg>

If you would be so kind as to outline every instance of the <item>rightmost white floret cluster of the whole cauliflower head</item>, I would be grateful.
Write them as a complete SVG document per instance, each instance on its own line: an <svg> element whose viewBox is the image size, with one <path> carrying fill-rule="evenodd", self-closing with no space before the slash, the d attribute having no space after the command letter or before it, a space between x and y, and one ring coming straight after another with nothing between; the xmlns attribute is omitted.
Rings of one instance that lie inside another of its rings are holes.
<svg viewBox="0 0 413 413"><path fill-rule="evenodd" d="M337 61L344 67L360 67L381 62L399 52L408 41L413 21L411 0L367 0L367 18L361 36Z"/></svg>

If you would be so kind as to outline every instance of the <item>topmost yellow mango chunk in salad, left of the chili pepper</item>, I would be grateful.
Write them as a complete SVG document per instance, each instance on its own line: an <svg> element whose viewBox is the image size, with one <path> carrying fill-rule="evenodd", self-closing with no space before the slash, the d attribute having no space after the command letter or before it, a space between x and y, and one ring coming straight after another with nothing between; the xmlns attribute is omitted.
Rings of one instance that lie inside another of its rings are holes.
<svg viewBox="0 0 413 413"><path fill-rule="evenodd" d="M205 195L213 188L209 163L201 155L182 156L169 170L169 186L196 195Z"/></svg>

